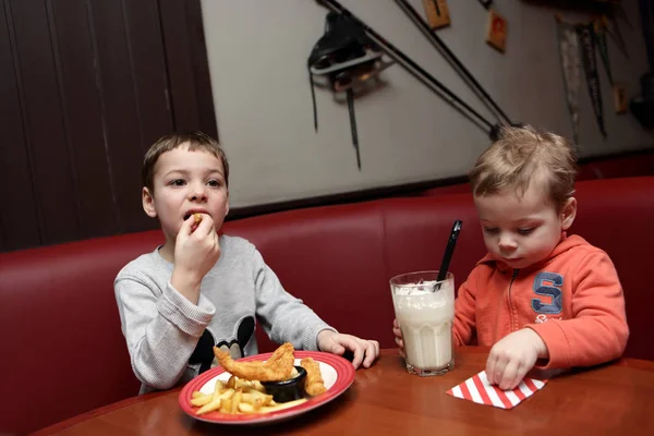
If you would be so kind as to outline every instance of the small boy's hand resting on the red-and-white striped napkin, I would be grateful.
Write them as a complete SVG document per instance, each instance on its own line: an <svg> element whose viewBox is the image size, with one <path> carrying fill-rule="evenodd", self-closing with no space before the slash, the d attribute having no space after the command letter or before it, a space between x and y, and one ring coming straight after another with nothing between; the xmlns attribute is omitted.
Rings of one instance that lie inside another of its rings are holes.
<svg viewBox="0 0 654 436"><path fill-rule="evenodd" d="M493 346L486 362L488 383L502 390L513 389L534 366L538 358L547 358L547 347L531 328L505 336Z"/></svg>

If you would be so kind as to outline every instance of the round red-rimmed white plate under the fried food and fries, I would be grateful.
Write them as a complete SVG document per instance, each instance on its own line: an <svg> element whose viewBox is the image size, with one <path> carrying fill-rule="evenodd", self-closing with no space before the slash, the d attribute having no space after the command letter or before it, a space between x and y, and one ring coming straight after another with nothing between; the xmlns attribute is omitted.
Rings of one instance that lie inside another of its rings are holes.
<svg viewBox="0 0 654 436"><path fill-rule="evenodd" d="M257 354L241 359L240 362L265 361L272 353ZM199 390L205 393L214 391L216 379L227 382L230 374L222 366L216 366L206 371L189 382L180 392L180 405L184 412L196 420L213 422L218 424L268 424L277 421L288 420L289 417L308 412L317 407L328 403L336 397L344 392L354 382L354 366L340 355L324 353L320 351L295 351L295 365L300 364L303 358L313 358L320 365L320 374L325 382L327 391L317 397L310 398L307 401L293 408L279 410L276 412L262 414L227 414L219 412L209 412L203 415L196 415L197 408L191 405L192 393Z"/></svg>

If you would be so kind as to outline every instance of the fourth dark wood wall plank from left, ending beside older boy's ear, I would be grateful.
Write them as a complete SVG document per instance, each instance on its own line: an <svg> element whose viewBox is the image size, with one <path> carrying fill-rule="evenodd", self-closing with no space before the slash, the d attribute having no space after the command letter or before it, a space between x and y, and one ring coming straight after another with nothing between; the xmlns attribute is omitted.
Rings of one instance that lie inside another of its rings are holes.
<svg viewBox="0 0 654 436"><path fill-rule="evenodd" d="M120 231L140 231L152 228L152 222L141 206L141 120L123 8L120 1L105 0L89 0L89 8Z"/></svg>

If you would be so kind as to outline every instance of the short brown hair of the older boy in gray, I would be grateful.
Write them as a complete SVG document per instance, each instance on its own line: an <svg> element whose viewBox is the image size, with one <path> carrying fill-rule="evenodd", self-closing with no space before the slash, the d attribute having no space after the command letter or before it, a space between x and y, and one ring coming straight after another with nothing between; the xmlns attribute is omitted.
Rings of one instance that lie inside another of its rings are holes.
<svg viewBox="0 0 654 436"><path fill-rule="evenodd" d="M182 144L189 144L190 152L204 150L220 159L222 162L222 170L225 171L225 184L229 187L229 162L227 161L225 150L220 144L218 144L218 141L205 133L196 131L186 133L172 133L161 136L149 147L145 154L145 158L143 159L141 179L143 185L147 187L150 193L154 194L155 192L154 178L157 160L159 160L159 157L164 153L175 149Z"/></svg>

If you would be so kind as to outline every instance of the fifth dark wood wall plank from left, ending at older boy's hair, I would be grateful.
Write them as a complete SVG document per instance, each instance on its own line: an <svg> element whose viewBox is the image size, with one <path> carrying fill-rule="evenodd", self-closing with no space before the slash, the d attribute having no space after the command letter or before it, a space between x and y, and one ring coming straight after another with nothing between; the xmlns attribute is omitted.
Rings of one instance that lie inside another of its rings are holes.
<svg viewBox="0 0 654 436"><path fill-rule="evenodd" d="M123 0L143 154L172 130L157 0Z"/></svg>

